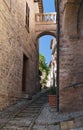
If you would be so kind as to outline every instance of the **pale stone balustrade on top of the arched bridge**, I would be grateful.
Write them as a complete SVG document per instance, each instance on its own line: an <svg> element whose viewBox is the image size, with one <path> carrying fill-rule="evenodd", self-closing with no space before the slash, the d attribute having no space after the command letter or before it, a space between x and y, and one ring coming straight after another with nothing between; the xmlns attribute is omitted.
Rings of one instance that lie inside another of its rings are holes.
<svg viewBox="0 0 83 130"><path fill-rule="evenodd" d="M35 14L36 22L56 22L56 13L37 13Z"/></svg>

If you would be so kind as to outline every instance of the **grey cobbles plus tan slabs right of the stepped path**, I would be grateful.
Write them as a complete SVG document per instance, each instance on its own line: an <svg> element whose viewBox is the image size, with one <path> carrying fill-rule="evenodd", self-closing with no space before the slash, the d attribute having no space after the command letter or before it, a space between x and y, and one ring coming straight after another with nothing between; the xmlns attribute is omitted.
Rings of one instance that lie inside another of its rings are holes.
<svg viewBox="0 0 83 130"><path fill-rule="evenodd" d="M83 130L83 111L58 113L47 103L36 119L33 130Z"/></svg>

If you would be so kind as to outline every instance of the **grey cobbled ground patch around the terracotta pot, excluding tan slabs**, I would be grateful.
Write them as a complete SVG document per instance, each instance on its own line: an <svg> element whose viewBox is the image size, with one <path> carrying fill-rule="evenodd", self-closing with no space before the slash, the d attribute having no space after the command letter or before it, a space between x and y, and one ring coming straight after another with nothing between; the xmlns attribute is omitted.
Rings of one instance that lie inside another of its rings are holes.
<svg viewBox="0 0 83 130"><path fill-rule="evenodd" d="M58 113L56 112L56 109L53 111L49 104L45 104L44 109L41 111L41 114L36 120L37 124L54 124L59 123L63 121L72 120L75 118L78 118L80 116L83 116L83 111L79 112L71 112L71 113Z"/></svg>

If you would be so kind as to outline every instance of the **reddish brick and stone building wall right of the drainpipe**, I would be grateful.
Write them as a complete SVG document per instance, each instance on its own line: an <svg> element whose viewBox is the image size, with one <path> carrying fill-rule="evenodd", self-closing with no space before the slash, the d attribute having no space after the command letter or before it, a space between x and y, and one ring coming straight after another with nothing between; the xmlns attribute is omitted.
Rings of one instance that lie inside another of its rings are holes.
<svg viewBox="0 0 83 130"><path fill-rule="evenodd" d="M83 109L83 0L56 0L60 111Z"/></svg>

